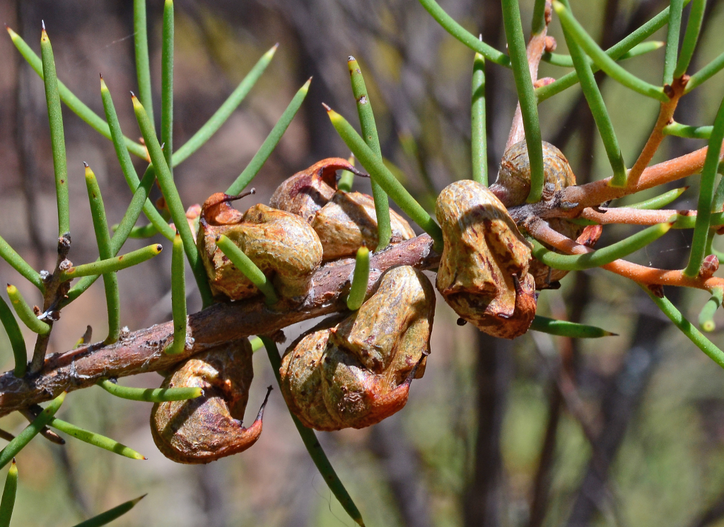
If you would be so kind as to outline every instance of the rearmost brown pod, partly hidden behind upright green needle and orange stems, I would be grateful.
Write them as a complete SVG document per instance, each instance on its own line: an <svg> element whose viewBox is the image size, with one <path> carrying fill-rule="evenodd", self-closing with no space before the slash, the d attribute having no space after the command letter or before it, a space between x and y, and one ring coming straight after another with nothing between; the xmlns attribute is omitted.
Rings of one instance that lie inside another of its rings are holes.
<svg viewBox="0 0 724 527"><path fill-rule="evenodd" d="M576 185L576 176L565 159L563 152L550 143L543 141L543 171L545 184L553 186L547 188L546 192L555 192L571 185ZM528 159L528 148L523 140L520 143L508 148L500 161L497 181L490 185L492 193L500 198L506 207L522 205L525 203L528 193L531 190L531 166ZM584 227L573 224L565 219L552 218L547 220L552 229L560 232L571 240L581 235ZM596 240L593 240L595 243ZM549 249L552 249L548 246ZM557 282L565 277L568 271L551 269L533 259L531 261L530 273L536 282L536 289L547 289L551 282Z"/></svg>

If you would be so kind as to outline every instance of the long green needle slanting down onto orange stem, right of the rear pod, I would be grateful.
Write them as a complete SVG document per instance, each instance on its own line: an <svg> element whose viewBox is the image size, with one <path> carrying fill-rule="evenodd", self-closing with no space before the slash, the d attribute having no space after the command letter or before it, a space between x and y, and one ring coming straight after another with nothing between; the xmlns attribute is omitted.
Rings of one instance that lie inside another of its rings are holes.
<svg viewBox="0 0 724 527"><path fill-rule="evenodd" d="M561 4L566 9L571 9L568 4L568 0L561 0ZM589 61L586 58L581 47L578 46L576 40L572 37L571 33L564 28L563 34L565 35L565 43L568 44L568 51L571 53L573 64L576 67L578 73L578 80L581 83L581 90L584 92L586 101L589 104L591 113L593 114L596 127L598 128L603 146L606 150L606 156L608 162L613 170L613 178L611 178L610 186L612 187L625 187L626 177L626 164L623 161L623 155L621 149L618 146L618 138L616 138L616 132L613 130L613 123L611 118L608 116L606 104L603 101L601 90L598 88L598 83L594 78L593 72L589 65Z"/></svg>

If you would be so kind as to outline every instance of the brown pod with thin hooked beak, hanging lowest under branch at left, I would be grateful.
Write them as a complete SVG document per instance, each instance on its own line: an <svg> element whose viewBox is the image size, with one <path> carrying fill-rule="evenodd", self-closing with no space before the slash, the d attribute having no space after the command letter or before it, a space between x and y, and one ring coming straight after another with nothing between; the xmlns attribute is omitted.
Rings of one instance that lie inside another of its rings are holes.
<svg viewBox="0 0 724 527"><path fill-rule="evenodd" d="M161 388L199 387L203 395L153 405L151 434L163 455L177 463L209 463L256 442L271 387L256 420L244 428L251 354L249 341L237 340L194 355L168 374Z"/></svg>

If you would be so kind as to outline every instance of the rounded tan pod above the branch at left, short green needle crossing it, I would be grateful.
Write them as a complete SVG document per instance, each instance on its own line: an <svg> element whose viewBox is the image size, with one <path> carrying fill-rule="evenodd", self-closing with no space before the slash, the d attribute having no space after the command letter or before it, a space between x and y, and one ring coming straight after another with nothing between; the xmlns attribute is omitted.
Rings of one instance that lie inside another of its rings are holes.
<svg viewBox="0 0 724 527"><path fill-rule="evenodd" d="M277 294L292 302L303 300L311 275L321 264L322 248L316 232L299 216L261 203L241 214L223 193L212 195L201 209L196 243L214 295L232 300L258 295L259 291L216 247L225 235L271 277Z"/></svg>

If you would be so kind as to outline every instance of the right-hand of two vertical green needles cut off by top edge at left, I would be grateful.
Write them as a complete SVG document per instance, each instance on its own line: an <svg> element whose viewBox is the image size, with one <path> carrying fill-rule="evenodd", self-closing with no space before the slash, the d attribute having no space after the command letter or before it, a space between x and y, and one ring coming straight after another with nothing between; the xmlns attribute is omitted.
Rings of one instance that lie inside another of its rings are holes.
<svg viewBox="0 0 724 527"><path fill-rule="evenodd" d="M174 173L174 2L164 1L161 36L161 144L171 174Z"/></svg>

